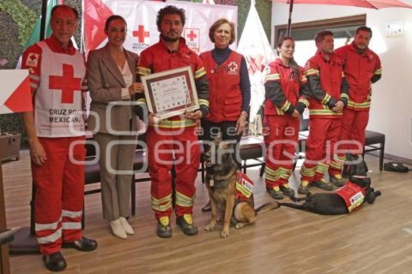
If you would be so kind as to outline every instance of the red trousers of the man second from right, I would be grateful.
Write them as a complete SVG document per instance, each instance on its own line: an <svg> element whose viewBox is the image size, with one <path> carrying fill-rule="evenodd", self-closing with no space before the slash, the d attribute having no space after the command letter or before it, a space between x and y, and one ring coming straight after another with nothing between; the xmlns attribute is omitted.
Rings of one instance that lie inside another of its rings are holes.
<svg viewBox="0 0 412 274"><path fill-rule="evenodd" d="M334 158L334 146L339 139L341 127L341 119L310 119L301 181L313 182L323 178Z"/></svg>

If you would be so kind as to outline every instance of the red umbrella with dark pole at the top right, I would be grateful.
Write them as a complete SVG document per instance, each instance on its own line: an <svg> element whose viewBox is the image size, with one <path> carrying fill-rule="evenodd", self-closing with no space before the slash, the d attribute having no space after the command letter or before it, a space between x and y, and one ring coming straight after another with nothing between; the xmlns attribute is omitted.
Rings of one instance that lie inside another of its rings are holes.
<svg viewBox="0 0 412 274"><path fill-rule="evenodd" d="M341 5L341 6L354 6L370 9L382 9L382 8L410 8L412 6L399 0L273 0L276 2L282 2L289 4L289 19L287 21L287 36L290 35L290 24L292 22L292 10L293 4L319 4L319 5Z"/></svg>

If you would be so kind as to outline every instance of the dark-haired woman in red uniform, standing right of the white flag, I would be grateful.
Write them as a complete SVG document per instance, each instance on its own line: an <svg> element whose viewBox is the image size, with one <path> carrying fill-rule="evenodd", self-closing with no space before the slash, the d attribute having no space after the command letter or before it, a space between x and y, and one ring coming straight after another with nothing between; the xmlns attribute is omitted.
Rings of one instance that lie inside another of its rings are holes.
<svg viewBox="0 0 412 274"><path fill-rule="evenodd" d="M270 197L282 199L295 195L288 181L298 144L299 116L306 107L299 100L306 77L293 59L293 38L282 37L276 46L279 58L269 63L264 78L265 181Z"/></svg>

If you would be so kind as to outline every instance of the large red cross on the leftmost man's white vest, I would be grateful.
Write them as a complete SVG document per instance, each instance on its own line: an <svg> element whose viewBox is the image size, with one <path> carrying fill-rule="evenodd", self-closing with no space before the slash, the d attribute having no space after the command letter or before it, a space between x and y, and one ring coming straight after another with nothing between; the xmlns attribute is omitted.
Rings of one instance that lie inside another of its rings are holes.
<svg viewBox="0 0 412 274"><path fill-rule="evenodd" d="M81 91L81 78L74 77L72 65L63 64L63 76L50 75L48 88L62 91L62 104L73 104L74 92Z"/></svg>

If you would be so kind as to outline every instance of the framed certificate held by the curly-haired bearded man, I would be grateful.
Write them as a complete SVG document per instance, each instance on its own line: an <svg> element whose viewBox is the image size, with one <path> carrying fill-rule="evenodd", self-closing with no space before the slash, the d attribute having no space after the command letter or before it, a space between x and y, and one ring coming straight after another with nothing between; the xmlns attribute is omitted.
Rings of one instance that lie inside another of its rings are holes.
<svg viewBox="0 0 412 274"><path fill-rule="evenodd" d="M147 107L160 119L199 108L194 77L190 66L141 77Z"/></svg>

